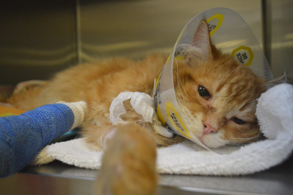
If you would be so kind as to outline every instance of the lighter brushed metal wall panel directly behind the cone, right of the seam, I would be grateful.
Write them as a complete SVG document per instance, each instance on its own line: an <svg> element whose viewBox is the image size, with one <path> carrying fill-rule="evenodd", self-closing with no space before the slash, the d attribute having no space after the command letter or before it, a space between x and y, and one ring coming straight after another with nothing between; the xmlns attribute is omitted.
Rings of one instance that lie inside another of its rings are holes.
<svg viewBox="0 0 293 195"><path fill-rule="evenodd" d="M183 27L198 13L226 7L239 13L262 44L260 1L80 1L80 61L150 53L168 55Z"/></svg>

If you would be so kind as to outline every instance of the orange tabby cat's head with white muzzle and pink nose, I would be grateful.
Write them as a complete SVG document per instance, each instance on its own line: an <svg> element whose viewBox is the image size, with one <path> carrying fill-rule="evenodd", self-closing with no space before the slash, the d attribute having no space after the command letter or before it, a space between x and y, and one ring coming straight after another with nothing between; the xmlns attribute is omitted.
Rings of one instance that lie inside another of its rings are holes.
<svg viewBox="0 0 293 195"><path fill-rule="evenodd" d="M173 78L188 129L210 148L256 140L256 99L265 91L263 78L216 49L205 21L186 49L185 58L174 59Z"/></svg>

